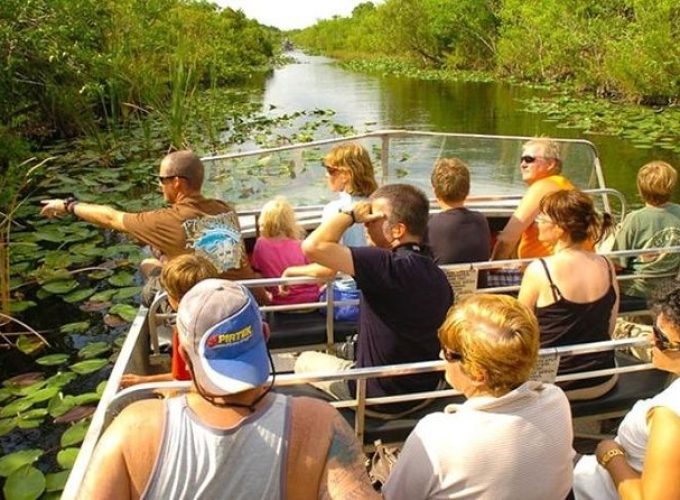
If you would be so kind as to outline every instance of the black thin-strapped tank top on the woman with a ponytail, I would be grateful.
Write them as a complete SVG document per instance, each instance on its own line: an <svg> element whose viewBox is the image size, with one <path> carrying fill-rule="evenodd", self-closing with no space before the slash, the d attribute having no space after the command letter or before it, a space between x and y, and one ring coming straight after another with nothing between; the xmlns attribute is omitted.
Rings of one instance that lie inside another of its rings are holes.
<svg viewBox="0 0 680 500"><path fill-rule="evenodd" d="M541 330L541 347L557 347L573 344L585 344L610 340L609 320L616 302L616 291L612 283L612 268L603 257L609 271L609 288L605 294L593 302L572 302L562 296L548 271L544 259L539 259L550 282L550 289L555 302L536 308L538 326ZM579 356L563 356L560 359L559 374L603 370L613 368L614 351L582 354ZM564 389L580 389L599 385L610 377L598 377L576 380L559 384Z"/></svg>

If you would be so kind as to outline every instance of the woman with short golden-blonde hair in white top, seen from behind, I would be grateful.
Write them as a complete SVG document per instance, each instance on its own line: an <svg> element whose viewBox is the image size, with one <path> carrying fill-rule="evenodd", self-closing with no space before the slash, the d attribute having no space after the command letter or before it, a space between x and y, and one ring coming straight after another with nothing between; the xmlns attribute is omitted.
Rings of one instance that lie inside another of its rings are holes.
<svg viewBox="0 0 680 500"><path fill-rule="evenodd" d="M446 381L468 399L418 423L384 497L565 498L571 411L560 388L529 380L539 348L531 310L473 295L449 311L439 339Z"/></svg>

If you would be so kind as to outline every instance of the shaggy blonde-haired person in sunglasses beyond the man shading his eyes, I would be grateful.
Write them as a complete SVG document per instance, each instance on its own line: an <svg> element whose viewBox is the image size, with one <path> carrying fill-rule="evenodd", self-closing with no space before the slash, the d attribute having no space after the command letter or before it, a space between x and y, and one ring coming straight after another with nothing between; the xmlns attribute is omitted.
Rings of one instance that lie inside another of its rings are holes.
<svg viewBox="0 0 680 500"><path fill-rule="evenodd" d="M340 210L351 209L357 201L368 199L378 188L371 157L361 144L338 144L326 154L322 165L326 169L328 187L338 193L338 199L324 207L321 215L323 221ZM366 245L363 224L354 224L345 231L341 243L346 246Z"/></svg>

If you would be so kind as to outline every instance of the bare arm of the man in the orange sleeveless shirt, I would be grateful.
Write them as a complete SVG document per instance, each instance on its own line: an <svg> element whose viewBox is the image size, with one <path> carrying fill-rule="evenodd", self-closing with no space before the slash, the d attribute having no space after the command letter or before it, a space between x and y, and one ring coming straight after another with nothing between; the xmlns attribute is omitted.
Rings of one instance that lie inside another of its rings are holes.
<svg viewBox="0 0 680 500"><path fill-rule="evenodd" d="M510 220L498 234L491 260L511 259L522 233L533 224L541 198L557 189L551 181L537 181L527 189Z"/></svg>

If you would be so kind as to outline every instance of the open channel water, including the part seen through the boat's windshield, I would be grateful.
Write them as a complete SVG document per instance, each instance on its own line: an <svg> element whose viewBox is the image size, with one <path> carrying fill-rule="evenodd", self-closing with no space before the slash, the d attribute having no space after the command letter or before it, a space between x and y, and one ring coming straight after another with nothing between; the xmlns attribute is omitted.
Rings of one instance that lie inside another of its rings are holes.
<svg viewBox="0 0 680 500"><path fill-rule="evenodd" d="M552 136L592 141L602 161L605 179L610 187L622 191L630 203L638 203L635 176L638 168L653 159L664 159L676 167L680 158L667 150L639 149L620 138L586 135L574 129L542 119L540 115L522 111L522 99L542 91L499 83L466 83L415 80L354 73L341 69L325 57L292 52L296 63L274 71L266 83L263 109L274 106L279 114L301 110L332 109L333 120L352 125L357 133L379 129L409 129L458 133L513 136ZM304 118L303 118L304 119ZM320 130L315 139L324 138ZM430 192L429 176L434 159L455 155L473 169L473 193L517 192L521 190L517 144L506 144L502 151L491 143L473 141L455 144L441 140L402 140L391 146L390 176L404 176L409 182ZM376 166L379 165L380 141L367 141ZM491 148L491 149L487 149ZM266 189L257 186L231 186L238 193L239 206L258 206L261 198L283 193L298 202L320 203L332 196L328 192L323 171L317 168L324 150L304 153L293 159L290 154L270 164L259 165L257 175ZM498 167L499 158L502 167ZM583 162L579 165L579 162ZM248 165L248 162L245 162ZM252 161L250 162L252 165ZM575 156L569 175L584 185L590 179L590 157ZM235 167L231 167L235 168ZM244 166L245 172L254 173ZM234 170L232 170L232 173ZM236 176L238 177L238 176ZM238 184L238 180L233 180ZM226 190L231 191L230 188ZM232 193L234 191L231 191Z"/></svg>

